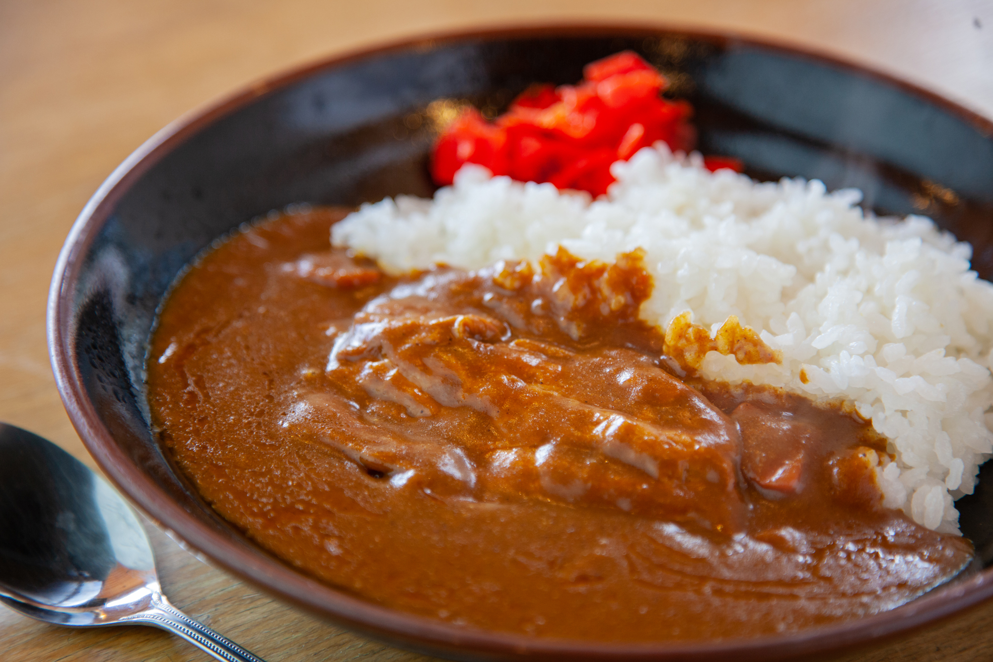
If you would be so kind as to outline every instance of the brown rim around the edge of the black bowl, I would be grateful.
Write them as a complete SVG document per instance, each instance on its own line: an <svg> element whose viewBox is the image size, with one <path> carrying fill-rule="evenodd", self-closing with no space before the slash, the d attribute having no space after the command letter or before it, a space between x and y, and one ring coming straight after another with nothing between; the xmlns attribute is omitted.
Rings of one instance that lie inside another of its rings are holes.
<svg viewBox="0 0 993 662"><path fill-rule="evenodd" d="M433 653L472 654L484 658L530 657L561 660L702 660L734 654L741 660L769 660L827 652L895 636L953 614L993 596L993 568L952 585L939 587L895 609L865 618L786 635L687 642L602 642L534 637L451 625L402 612L355 596L344 589L310 579L258 548L218 535L173 502L114 442L86 395L75 363L71 337L73 292L82 257L103 223L129 187L155 163L213 121L268 92L323 71L390 52L430 49L466 41L498 41L529 37L681 36L720 46L743 45L826 64L876 83L896 86L993 136L993 121L916 83L856 64L835 54L766 37L665 23L574 22L504 25L479 30L452 30L397 39L359 48L290 68L251 83L184 114L155 133L130 154L100 185L73 223L60 251L49 290L47 338L56 385L71 423L103 473L132 504L167 533L205 554L223 570L279 598L379 639Z"/></svg>

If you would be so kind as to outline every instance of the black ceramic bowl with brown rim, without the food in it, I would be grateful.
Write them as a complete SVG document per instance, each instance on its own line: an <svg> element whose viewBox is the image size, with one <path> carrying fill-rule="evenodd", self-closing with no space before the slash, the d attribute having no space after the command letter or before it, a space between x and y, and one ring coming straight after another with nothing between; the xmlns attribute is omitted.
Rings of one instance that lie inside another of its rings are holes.
<svg viewBox="0 0 993 662"><path fill-rule="evenodd" d="M292 72L172 125L129 157L72 228L49 300L59 389L107 476L218 565L276 595L400 645L456 659L775 659L916 627L993 595L993 570L898 609L797 634L626 645L472 631L387 609L310 579L221 520L149 430L143 362L156 307L211 242L290 203L430 196L432 134L412 116L439 98L499 110L528 83L574 83L632 49L696 108L699 148L762 179L856 186L888 214L923 213L993 273L993 123L933 94L796 49L646 28L508 30L410 42ZM984 473L993 473L986 471ZM986 476L962 530L989 563Z"/></svg>

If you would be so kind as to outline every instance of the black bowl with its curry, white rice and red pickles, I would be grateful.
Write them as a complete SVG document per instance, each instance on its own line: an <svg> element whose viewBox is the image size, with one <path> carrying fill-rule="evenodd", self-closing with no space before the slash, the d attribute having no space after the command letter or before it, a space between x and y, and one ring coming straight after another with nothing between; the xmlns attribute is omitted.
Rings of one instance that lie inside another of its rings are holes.
<svg viewBox="0 0 993 662"><path fill-rule="evenodd" d="M719 34L337 58L167 127L53 280L153 519L451 659L785 659L993 594L993 123Z"/></svg>

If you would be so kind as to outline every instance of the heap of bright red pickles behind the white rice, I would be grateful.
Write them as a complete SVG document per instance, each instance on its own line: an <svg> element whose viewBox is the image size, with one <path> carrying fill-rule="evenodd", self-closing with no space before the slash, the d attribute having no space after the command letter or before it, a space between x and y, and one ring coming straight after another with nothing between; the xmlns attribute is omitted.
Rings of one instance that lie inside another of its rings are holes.
<svg viewBox="0 0 993 662"><path fill-rule="evenodd" d="M665 79L631 51L590 63L577 85L532 85L488 122L469 108L448 126L431 163L441 186L466 163L524 182L560 189L607 192L610 166L662 140L672 150L692 148L695 132L685 101L659 93Z"/></svg>

